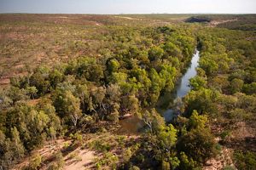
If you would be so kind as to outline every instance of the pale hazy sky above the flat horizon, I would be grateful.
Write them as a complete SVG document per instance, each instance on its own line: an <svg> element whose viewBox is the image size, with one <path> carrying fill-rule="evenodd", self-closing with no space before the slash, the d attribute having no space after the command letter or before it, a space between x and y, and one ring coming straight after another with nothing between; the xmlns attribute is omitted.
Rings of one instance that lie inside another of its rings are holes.
<svg viewBox="0 0 256 170"><path fill-rule="evenodd" d="M0 13L256 14L256 0L0 0Z"/></svg>

